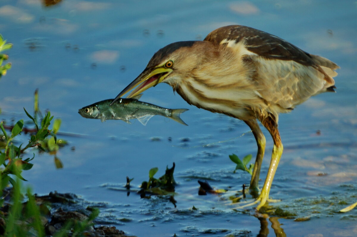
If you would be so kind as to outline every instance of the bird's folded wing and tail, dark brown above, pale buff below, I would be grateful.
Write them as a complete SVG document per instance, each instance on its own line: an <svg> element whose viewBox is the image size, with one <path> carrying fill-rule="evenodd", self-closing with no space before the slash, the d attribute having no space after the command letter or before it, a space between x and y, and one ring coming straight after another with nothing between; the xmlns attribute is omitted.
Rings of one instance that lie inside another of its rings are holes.
<svg viewBox="0 0 357 237"><path fill-rule="evenodd" d="M218 28L204 39L218 47L229 47L255 73L247 80L266 104L267 112L287 112L303 101L325 91L334 91L332 77L339 68L321 56L309 54L269 33L247 26ZM238 52L239 51L239 52Z"/></svg>

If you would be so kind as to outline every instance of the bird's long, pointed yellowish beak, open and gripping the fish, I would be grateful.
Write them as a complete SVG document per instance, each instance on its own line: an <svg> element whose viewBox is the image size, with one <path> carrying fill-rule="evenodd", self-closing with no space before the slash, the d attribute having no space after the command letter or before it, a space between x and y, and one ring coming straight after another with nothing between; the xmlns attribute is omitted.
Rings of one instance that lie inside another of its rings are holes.
<svg viewBox="0 0 357 237"><path fill-rule="evenodd" d="M132 98L136 95L139 95L146 89L149 89L151 86L156 86L162 80L164 80L167 75L169 75L172 72L171 68L165 68L165 67L159 67L155 68L154 70L150 70L146 68L140 75L137 77L134 81L132 81L129 85L126 86L124 90L122 90L119 95L116 96L116 98L111 102L110 105L112 105L116 100L121 98L124 94L126 94L128 91L135 88L128 96L127 98ZM138 86L139 85L139 86Z"/></svg>

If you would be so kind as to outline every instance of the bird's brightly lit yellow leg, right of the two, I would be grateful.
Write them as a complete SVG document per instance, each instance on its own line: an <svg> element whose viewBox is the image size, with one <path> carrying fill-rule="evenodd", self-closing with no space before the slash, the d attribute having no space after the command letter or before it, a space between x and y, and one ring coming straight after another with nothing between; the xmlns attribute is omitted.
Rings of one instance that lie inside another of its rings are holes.
<svg viewBox="0 0 357 237"><path fill-rule="evenodd" d="M260 201L260 204L257 206L257 210L259 210L262 206L264 206L264 204L266 203L266 201L269 198L271 184L273 182L273 178L274 178L276 169L278 168L281 154L283 153L283 144L281 143L280 134L278 131L278 125L276 123L276 120L272 117L267 117L262 121L262 124L270 132L270 134L273 138L273 141L274 141L274 146L273 146L273 152L271 155L271 161L270 161L270 165L269 165L267 178L265 179L263 188L262 188L261 193L257 199L258 201Z"/></svg>

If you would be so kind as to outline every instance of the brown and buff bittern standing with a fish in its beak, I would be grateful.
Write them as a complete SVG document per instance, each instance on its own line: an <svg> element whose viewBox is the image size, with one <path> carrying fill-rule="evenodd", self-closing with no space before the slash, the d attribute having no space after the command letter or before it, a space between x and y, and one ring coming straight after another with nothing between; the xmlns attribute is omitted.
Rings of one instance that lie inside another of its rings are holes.
<svg viewBox="0 0 357 237"><path fill-rule="evenodd" d="M257 197L254 203L260 202L260 209L268 200L283 152L279 113L290 112L310 96L335 91L332 77L337 75L337 68L327 58L309 54L269 33L247 26L224 26L203 41L175 42L157 51L139 77L114 101L136 86L128 98L165 82L190 105L243 120L258 145L250 193ZM257 119L274 141L267 178L259 195L266 140Z"/></svg>

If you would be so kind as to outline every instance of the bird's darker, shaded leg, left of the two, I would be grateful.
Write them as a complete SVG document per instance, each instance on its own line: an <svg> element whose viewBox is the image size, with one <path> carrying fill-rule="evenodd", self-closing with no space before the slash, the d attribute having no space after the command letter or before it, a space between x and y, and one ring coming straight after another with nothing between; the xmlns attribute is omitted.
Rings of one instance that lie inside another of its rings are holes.
<svg viewBox="0 0 357 237"><path fill-rule="evenodd" d="M258 145L257 157L255 159L253 174L249 186L249 193L253 197L257 198L259 195L259 188L258 188L259 174L260 174L260 168L264 157L266 140L264 134L262 133L262 130L260 130L260 127L256 119L244 120L244 122L252 130L252 133Z"/></svg>

